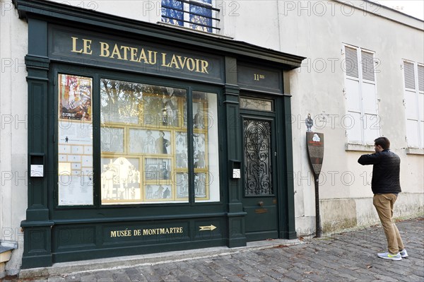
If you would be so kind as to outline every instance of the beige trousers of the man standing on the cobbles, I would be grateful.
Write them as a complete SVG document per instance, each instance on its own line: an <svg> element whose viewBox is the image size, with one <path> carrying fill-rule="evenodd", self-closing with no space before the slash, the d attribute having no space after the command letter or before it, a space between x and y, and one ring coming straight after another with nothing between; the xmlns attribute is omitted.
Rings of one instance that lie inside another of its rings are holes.
<svg viewBox="0 0 424 282"><path fill-rule="evenodd" d="M397 196L395 194L375 194L372 199L377 210L379 219L384 228L384 234L386 234L387 247L391 254L397 254L399 251L404 249L404 242L402 242L399 230L393 222L393 206Z"/></svg>

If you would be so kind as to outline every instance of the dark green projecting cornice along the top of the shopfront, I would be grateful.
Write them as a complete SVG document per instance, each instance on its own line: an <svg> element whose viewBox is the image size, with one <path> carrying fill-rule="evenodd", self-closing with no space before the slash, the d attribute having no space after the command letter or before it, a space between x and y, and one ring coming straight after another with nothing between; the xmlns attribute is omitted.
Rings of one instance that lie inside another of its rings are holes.
<svg viewBox="0 0 424 282"><path fill-rule="evenodd" d="M227 56L254 58L279 65L283 69L298 68L305 57L278 52L247 42L192 33L166 25L122 18L108 13L42 0L13 0L19 18L39 18L53 23L70 21L78 26L88 26L115 33L127 33L151 40L167 41L170 45L187 46L187 49L208 50Z"/></svg>

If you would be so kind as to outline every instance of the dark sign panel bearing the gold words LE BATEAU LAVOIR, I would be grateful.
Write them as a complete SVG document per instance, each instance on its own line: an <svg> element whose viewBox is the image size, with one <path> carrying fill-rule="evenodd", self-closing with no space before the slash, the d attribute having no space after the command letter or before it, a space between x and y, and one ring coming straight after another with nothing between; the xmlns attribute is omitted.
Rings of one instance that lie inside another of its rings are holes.
<svg viewBox="0 0 424 282"><path fill-rule="evenodd" d="M52 28L50 57L91 66L112 66L155 74L194 76L222 81L222 58L184 49Z"/></svg>

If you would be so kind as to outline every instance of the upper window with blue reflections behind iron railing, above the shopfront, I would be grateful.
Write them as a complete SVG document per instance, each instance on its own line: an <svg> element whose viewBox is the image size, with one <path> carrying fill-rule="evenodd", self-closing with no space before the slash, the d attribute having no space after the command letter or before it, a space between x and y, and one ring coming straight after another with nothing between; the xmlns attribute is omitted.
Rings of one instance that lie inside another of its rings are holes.
<svg viewBox="0 0 424 282"><path fill-rule="evenodd" d="M218 30L217 8L212 0L162 0L162 21L194 30L213 33Z"/></svg>

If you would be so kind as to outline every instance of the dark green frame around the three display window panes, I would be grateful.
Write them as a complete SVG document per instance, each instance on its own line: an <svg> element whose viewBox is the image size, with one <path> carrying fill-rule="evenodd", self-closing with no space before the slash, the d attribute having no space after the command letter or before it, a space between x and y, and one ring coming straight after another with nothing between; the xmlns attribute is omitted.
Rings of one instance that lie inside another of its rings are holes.
<svg viewBox="0 0 424 282"><path fill-rule="evenodd" d="M58 126L59 126L59 112L58 112L58 103L59 103L59 74L67 74L73 76L86 76L92 78L93 80L93 93L92 93L92 107L93 107L93 116L92 116L92 128L93 128L93 205L59 205L59 184L58 184ZM191 136L193 129L192 123L194 119L194 115L192 114L192 93L194 91L201 91L206 93L215 93L216 94L216 112L218 114L218 119L220 114L223 112L223 105L220 102L222 99L222 87L214 86L206 83L196 83L195 81L182 81L177 80L175 78L160 78L160 77L152 77L146 76L144 74L128 74L118 70L105 70L105 69L95 69L95 68L83 68L78 66L69 66L60 63L52 64L51 71L49 71L49 78L54 83L50 83L49 91L53 93L48 100L49 109L51 109L51 114L49 114L49 131L52 132L52 139L49 141L52 146L49 146L49 164L52 170L52 177L50 177L51 185L49 185L49 194L51 196L51 201L49 200L49 206L54 210L54 213L61 214L61 212L66 211L76 211L77 213L81 211L87 210L98 210L99 208L102 210L113 210L119 209L122 211L129 211L134 208L146 208L146 210L151 210L151 216L154 216L154 211L157 210L158 207L162 208L165 206L167 208L172 207L192 207L192 206L216 206L223 204L223 181L225 180L225 171L223 165L223 154L219 150L218 154L218 170L219 170L219 180L218 180L218 191L219 199L218 201L196 201L195 192L194 192L194 171L192 158L189 156L189 200L182 202L169 202L169 203L149 203L149 204L102 204L101 199L101 158L102 152L100 149L100 130L101 130L101 121L100 121L100 79L101 78L110 78L114 80L120 81L129 81L132 83L143 83L149 85L157 85L163 87L174 87L174 88L183 88L187 90L187 135ZM223 142L223 134L224 129L218 126L217 124L217 134L218 134L218 148L220 148L219 144ZM192 138L189 138L188 143L193 142ZM192 146L191 146L192 147ZM188 152L190 152L192 148L188 148ZM182 208L184 211L184 208ZM189 211L187 211L188 213ZM76 213L76 218L78 218ZM73 213L72 213L73 214ZM93 213L93 216L94 213ZM79 216L81 217L81 215ZM83 217L87 217L84 213ZM90 217L90 216L88 216Z"/></svg>

